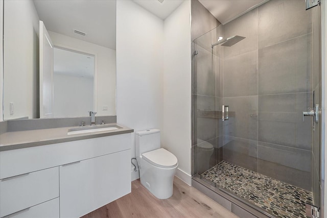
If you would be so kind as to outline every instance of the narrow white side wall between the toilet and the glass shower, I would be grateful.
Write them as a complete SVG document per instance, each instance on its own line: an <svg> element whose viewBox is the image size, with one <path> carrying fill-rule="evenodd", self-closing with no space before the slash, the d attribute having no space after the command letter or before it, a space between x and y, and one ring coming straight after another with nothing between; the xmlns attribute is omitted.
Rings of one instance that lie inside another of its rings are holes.
<svg viewBox="0 0 327 218"><path fill-rule="evenodd" d="M178 159L176 175L191 185L191 1L164 21L161 146Z"/></svg>

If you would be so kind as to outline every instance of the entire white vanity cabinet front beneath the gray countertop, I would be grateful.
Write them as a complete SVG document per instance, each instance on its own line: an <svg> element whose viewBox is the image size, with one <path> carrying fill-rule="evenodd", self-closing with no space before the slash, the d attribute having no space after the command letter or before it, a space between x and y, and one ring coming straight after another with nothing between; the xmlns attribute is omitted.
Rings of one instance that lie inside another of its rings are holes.
<svg viewBox="0 0 327 218"><path fill-rule="evenodd" d="M0 152L0 217L80 217L126 195L130 149L125 133Z"/></svg>

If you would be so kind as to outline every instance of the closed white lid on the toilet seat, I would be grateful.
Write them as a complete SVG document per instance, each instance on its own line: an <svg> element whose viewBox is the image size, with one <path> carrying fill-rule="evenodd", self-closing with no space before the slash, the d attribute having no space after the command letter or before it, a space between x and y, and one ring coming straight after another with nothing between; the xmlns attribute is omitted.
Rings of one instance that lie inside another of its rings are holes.
<svg viewBox="0 0 327 218"><path fill-rule="evenodd" d="M156 149L154 151L146 152L142 154L142 158L161 168L173 168L177 165L176 156L166 149Z"/></svg>

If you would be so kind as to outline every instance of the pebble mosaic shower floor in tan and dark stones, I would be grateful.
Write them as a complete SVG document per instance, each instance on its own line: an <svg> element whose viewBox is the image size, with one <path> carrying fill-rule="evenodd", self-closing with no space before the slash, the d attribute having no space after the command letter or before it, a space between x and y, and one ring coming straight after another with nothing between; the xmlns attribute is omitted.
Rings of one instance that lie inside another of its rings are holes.
<svg viewBox="0 0 327 218"><path fill-rule="evenodd" d="M310 191L226 161L201 174L201 179L276 217L306 218L306 203L313 204Z"/></svg>

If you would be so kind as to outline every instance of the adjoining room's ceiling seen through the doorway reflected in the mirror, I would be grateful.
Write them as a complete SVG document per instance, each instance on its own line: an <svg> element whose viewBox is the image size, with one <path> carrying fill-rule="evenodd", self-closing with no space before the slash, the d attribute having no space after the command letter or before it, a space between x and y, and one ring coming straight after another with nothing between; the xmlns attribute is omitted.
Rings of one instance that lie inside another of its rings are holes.
<svg viewBox="0 0 327 218"><path fill-rule="evenodd" d="M94 56L54 48L54 74L94 77Z"/></svg>

